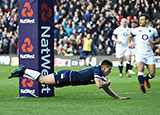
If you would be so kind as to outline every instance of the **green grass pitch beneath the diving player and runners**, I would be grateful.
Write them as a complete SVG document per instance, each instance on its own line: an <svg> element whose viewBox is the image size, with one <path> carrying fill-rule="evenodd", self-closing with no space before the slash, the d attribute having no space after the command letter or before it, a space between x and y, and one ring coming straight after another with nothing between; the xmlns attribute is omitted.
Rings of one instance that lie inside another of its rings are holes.
<svg viewBox="0 0 160 115"><path fill-rule="evenodd" d="M0 115L159 115L160 69L151 82L151 89L143 94L137 76L119 78L118 68L109 75L111 88L130 100L117 100L107 95L95 84L55 88L55 97L20 98L18 78L8 79L16 67L0 65ZM56 67L80 70L86 67ZM136 68L133 69L137 72ZM146 74L145 70L145 74Z"/></svg>

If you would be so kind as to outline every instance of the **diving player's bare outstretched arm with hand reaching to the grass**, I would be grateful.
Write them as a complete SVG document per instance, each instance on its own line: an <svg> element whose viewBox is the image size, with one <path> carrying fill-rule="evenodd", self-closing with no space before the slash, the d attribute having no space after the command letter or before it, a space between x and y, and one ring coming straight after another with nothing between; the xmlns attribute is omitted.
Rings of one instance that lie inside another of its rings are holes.
<svg viewBox="0 0 160 115"><path fill-rule="evenodd" d="M108 93L111 97L114 97L115 99L131 99L130 97L120 97L118 96L112 89L110 89L109 87L104 87L103 88L105 90L106 93Z"/></svg>

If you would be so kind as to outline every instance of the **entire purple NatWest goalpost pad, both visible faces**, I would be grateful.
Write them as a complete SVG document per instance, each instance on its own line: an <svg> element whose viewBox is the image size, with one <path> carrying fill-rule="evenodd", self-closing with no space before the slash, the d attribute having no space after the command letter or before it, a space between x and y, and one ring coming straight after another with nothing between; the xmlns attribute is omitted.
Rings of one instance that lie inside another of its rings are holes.
<svg viewBox="0 0 160 115"><path fill-rule="evenodd" d="M19 0L19 62L42 75L54 72L53 0ZM54 96L52 85L19 79L20 96Z"/></svg>

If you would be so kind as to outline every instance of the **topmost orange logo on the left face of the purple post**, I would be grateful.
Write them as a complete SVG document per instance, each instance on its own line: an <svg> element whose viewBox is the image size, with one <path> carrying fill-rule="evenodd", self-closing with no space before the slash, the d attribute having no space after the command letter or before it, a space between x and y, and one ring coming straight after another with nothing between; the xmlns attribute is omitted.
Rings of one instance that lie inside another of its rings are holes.
<svg viewBox="0 0 160 115"><path fill-rule="evenodd" d="M33 16L33 9L31 8L31 5L29 2L26 2L24 4L24 8L22 9L21 14L23 17L32 17Z"/></svg>

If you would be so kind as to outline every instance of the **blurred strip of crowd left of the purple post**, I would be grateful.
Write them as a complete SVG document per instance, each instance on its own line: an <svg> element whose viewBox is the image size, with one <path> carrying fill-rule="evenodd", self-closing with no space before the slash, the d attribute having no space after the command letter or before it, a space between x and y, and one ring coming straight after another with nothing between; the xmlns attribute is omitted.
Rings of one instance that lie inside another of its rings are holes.
<svg viewBox="0 0 160 115"><path fill-rule="evenodd" d="M18 0L0 0L0 54L17 54Z"/></svg>

